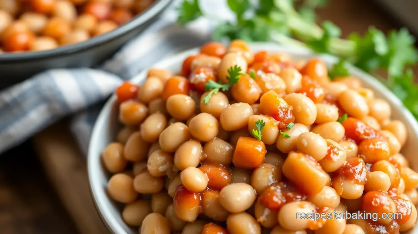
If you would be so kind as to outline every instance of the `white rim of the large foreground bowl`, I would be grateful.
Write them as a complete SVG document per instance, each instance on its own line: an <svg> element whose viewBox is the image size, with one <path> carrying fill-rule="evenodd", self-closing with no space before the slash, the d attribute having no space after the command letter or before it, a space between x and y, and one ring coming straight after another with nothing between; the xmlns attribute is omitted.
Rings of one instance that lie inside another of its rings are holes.
<svg viewBox="0 0 418 234"><path fill-rule="evenodd" d="M335 64L338 62L338 58L330 55L324 55L324 54L316 54L313 51L305 48L298 48L298 47L283 47L275 43L250 43L250 48L252 48L255 51L258 50L272 50L272 51L280 51L284 53L290 53L292 56L314 56L317 58L324 59L326 64ZM183 51L181 53L177 53L173 56L169 56L168 58L165 58L158 63L154 64L152 67L164 67L164 64L171 64L175 63L179 60L179 58L186 57L187 55L196 54L199 52L199 47L192 48L186 51ZM408 125L412 128L412 131L415 135L418 136L418 122L416 121L415 117L412 115L412 113L406 109L406 107L403 105L403 103L398 99L398 97L393 94L384 84L382 84L380 81L372 77L370 74L367 74L366 72L356 68L355 66L348 64L347 66L348 70L352 73L360 74L361 76L359 79L362 80L362 82L369 84L370 86L373 86L374 89L377 91L385 94L385 100L389 102L391 105L395 105L400 110L400 115L403 115L405 119L408 121ZM133 83L140 83L143 79L145 79L148 69L142 71L140 74L133 77L133 79L130 79ZM89 142L89 150L87 155L87 173L89 178L89 185L90 185L90 192L92 194L92 198L94 201L94 205L97 209L97 213L102 218L103 223L105 226L109 228L110 231L112 231L115 234L127 234L127 232L122 228L121 224L117 222L115 219L115 214L112 213L112 211L109 209L109 207L104 207L101 202L102 199L110 199L108 195L103 191L102 187L100 185L100 178L99 178L99 171L102 170L101 163L97 163L97 161L101 162L101 154L96 155L97 152L101 152L103 149L97 149L97 141L102 137L100 135L100 131L102 126L107 124L107 118L110 114L110 111L112 107L117 102L117 98L115 94L112 94L112 97L107 100L106 104L104 104L104 107L100 111L99 116L97 117L97 120L94 124L92 135ZM412 229L413 230L413 229Z"/></svg>

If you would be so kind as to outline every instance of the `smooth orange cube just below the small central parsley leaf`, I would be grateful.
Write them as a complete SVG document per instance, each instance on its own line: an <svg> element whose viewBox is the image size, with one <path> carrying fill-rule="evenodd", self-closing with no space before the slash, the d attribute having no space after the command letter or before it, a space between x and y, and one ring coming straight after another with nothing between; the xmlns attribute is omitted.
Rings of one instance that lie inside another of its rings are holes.
<svg viewBox="0 0 418 234"><path fill-rule="evenodd" d="M252 137L238 138L232 163L238 168L253 169L264 161L265 145Z"/></svg>

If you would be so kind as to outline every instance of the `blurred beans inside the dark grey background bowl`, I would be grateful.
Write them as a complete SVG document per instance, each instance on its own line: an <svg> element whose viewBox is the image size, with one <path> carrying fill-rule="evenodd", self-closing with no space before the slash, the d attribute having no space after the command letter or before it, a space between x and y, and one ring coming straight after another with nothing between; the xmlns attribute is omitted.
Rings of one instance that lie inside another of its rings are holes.
<svg viewBox="0 0 418 234"><path fill-rule="evenodd" d="M0 53L43 51L110 32L155 0L0 0Z"/></svg>

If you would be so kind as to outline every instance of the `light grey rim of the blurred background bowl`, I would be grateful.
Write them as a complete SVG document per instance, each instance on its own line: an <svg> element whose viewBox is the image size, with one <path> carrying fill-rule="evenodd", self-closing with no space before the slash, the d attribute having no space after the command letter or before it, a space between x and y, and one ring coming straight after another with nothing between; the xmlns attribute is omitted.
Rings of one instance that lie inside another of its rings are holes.
<svg viewBox="0 0 418 234"><path fill-rule="evenodd" d="M99 46L100 44L110 41L114 38L117 38L120 35L123 35L134 28L144 24L145 22L149 21L154 16L161 13L164 8L166 8L173 0L156 0L150 7L144 10L139 15L135 16L131 21L120 25L116 29L105 33L100 36L96 36L90 38L87 41L83 41L80 43L68 45L68 46L59 46L58 48L46 51L28 51L22 53L3 53L0 54L0 62L10 62L10 61L25 61L25 60L33 60L33 59L40 59L46 57L53 57L59 55L70 54L78 51L85 50L87 48L92 48Z"/></svg>

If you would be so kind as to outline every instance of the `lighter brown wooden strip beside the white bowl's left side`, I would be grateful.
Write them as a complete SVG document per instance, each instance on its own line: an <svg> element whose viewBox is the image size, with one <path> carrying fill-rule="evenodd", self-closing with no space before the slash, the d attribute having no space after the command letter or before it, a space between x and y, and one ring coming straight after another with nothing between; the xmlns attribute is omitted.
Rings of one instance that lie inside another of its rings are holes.
<svg viewBox="0 0 418 234"><path fill-rule="evenodd" d="M59 136L59 137L57 137ZM65 121L33 137L33 144L51 183L81 234L107 234L90 195L86 158Z"/></svg>

